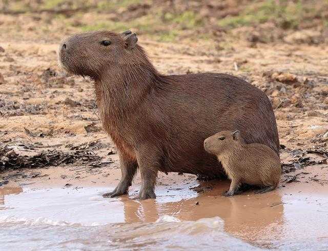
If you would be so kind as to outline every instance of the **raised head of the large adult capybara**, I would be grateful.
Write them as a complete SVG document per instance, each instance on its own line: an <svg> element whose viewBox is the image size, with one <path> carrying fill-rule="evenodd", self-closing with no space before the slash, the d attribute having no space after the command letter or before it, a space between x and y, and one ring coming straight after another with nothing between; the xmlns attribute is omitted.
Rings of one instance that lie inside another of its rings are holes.
<svg viewBox="0 0 328 251"><path fill-rule="evenodd" d="M61 41L59 63L70 73L97 79L109 68L142 61L144 53L137 41L131 31L74 34Z"/></svg>

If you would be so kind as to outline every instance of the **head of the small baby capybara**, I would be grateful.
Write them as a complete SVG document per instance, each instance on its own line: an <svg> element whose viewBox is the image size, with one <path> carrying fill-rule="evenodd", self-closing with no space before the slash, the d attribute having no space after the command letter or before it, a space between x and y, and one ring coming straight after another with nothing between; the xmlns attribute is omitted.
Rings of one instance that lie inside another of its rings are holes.
<svg viewBox="0 0 328 251"><path fill-rule="evenodd" d="M229 149L233 145L240 144L240 132L220 131L204 140L204 149L213 155L219 155L224 149Z"/></svg>

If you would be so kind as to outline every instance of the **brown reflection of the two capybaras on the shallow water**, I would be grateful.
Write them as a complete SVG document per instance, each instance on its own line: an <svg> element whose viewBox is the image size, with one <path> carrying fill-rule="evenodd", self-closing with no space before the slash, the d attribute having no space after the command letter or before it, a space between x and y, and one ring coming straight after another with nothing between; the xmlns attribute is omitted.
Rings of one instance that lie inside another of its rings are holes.
<svg viewBox="0 0 328 251"><path fill-rule="evenodd" d="M222 197L222 192L228 186L229 184L220 183L209 192L177 202L136 201L122 197L125 221L154 222L162 215L185 221L218 216L224 220L224 228L228 233L248 242L261 241L262 246L270 247L269 240L279 240L284 210L279 192L263 195L249 192L249 195Z"/></svg>

